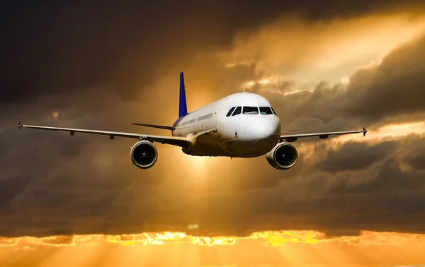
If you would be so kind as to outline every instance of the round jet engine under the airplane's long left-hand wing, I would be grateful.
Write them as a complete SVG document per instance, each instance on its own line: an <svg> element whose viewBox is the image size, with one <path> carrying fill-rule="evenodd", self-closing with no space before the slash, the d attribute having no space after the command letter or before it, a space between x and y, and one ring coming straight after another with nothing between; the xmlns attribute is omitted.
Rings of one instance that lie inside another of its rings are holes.
<svg viewBox="0 0 425 267"><path fill-rule="evenodd" d="M148 169L157 162L158 151L149 141L139 141L131 148L131 161L140 169Z"/></svg>

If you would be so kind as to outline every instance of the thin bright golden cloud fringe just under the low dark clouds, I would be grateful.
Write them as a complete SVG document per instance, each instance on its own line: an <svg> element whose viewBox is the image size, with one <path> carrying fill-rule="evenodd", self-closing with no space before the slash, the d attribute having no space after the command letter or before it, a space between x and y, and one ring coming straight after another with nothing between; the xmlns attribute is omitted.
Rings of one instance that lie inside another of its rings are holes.
<svg viewBox="0 0 425 267"><path fill-rule="evenodd" d="M157 232L132 235L71 235L52 237L1 237L1 247L76 247L85 245L116 244L119 246L164 245L164 244L193 244L196 246L225 246L235 245L248 240L260 241L271 247L283 246L287 243L297 244L347 244L371 245L382 244L397 246L405 242L414 242L425 246L425 235L397 232L362 231L358 236L327 237L322 232L312 230L282 230L254 232L248 237L196 237L183 232Z"/></svg>

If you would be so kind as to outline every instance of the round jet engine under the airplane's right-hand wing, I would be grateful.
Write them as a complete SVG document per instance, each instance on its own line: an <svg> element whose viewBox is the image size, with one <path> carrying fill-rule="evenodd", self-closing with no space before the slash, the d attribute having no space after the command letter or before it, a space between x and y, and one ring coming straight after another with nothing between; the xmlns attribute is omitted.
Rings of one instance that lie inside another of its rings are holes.
<svg viewBox="0 0 425 267"><path fill-rule="evenodd" d="M268 163L278 170L292 168L298 160L297 149L289 143L278 143L266 154Z"/></svg>

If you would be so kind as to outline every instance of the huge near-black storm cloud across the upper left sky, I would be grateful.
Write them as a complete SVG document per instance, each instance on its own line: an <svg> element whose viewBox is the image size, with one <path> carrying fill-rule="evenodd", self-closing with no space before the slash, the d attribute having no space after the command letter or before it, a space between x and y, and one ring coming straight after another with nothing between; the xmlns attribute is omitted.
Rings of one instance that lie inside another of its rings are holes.
<svg viewBox="0 0 425 267"><path fill-rule="evenodd" d="M198 52L282 15L310 21L368 13L418 13L417 1L20 2L1 8L1 102L107 86L132 99Z"/></svg>

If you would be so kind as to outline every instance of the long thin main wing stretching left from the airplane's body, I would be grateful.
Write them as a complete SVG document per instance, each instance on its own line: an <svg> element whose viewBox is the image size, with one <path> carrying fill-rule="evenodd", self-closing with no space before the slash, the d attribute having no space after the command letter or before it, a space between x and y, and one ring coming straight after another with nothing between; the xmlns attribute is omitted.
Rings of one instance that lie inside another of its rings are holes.
<svg viewBox="0 0 425 267"><path fill-rule="evenodd" d="M94 133L100 134L103 136L109 136L110 139L118 137L125 138L135 138L139 140L147 140L151 142L158 143L166 143L173 146L180 146L182 148L188 148L188 142L186 141L186 137L178 137L178 136L151 136L148 134L140 134L140 133L122 133L119 131L97 131L97 130L86 130L86 129L74 129L74 128L59 128L59 127L50 127L50 126L35 126L35 125L23 125L21 123L18 124L18 129L30 128L30 129L39 129L39 130L49 130L49 131L68 131L73 136L75 133Z"/></svg>

